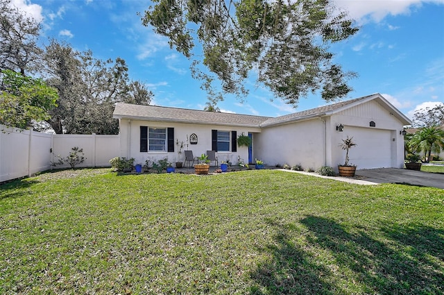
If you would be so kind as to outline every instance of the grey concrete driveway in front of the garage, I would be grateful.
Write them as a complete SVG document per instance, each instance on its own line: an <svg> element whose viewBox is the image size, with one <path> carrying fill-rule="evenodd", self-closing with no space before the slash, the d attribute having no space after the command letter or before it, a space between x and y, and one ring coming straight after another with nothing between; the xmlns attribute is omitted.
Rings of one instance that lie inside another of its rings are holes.
<svg viewBox="0 0 444 295"><path fill-rule="evenodd" d="M362 169L356 171L362 180L372 183L404 183L444 189L444 174L396 168Z"/></svg>

